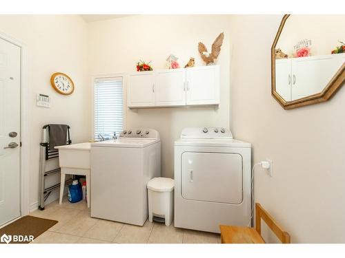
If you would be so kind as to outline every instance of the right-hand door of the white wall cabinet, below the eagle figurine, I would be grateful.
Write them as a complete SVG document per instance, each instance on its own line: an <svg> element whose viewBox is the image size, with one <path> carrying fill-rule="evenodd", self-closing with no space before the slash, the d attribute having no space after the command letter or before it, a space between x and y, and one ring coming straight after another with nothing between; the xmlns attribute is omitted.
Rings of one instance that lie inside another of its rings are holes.
<svg viewBox="0 0 345 258"><path fill-rule="evenodd" d="M187 105L219 104L219 66L186 69Z"/></svg>

